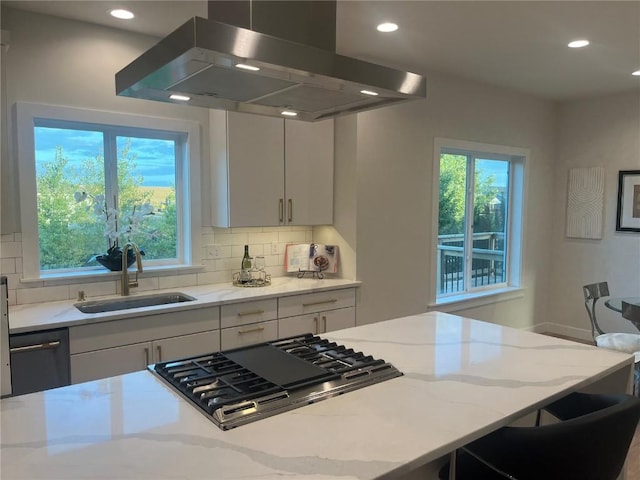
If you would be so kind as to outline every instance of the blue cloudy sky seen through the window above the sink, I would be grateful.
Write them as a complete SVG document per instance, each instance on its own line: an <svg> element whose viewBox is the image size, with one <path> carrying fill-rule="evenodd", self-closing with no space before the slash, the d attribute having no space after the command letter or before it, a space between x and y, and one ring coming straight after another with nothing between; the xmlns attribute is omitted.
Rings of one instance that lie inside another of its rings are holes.
<svg viewBox="0 0 640 480"><path fill-rule="evenodd" d="M125 144L126 137L118 137L118 149ZM36 163L51 161L57 147L62 147L70 168L77 168L82 161L102 155L104 151L102 133L86 130L36 127ZM131 151L135 152L138 172L146 187L175 186L174 143L169 140L132 138Z"/></svg>

